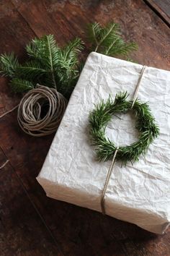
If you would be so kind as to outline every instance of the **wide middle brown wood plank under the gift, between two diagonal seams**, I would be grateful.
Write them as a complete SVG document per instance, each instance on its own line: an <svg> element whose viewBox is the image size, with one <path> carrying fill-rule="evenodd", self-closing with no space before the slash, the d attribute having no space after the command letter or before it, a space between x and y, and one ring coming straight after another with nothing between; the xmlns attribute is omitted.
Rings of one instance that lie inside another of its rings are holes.
<svg viewBox="0 0 170 256"><path fill-rule="evenodd" d="M104 24L114 17L122 25L124 37L137 41L140 46L133 59L141 64L170 69L169 29L143 1L12 0L7 7L8 11L4 1L1 51L13 49L22 57L24 44L35 35L45 33L53 33L61 45L75 36L86 40L86 22L97 20ZM12 20L8 23L9 17ZM4 111L18 98L9 93L6 80L0 82L1 100L4 99L0 111ZM16 112L0 120L1 148L65 255L170 255L170 230L163 236L156 236L130 223L46 197L35 177L54 135L36 139L24 135L18 127ZM23 202L21 208L24 206Z"/></svg>

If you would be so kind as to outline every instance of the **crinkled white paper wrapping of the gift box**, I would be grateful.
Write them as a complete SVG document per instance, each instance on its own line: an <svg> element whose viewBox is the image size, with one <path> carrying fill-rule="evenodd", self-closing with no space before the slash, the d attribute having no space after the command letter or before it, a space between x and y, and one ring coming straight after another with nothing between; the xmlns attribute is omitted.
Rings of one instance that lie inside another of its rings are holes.
<svg viewBox="0 0 170 256"><path fill-rule="evenodd" d="M73 90L37 181L48 197L101 212L101 195L111 161L96 160L89 137L89 111L109 94L133 98L143 66L91 53ZM162 234L170 222L170 72L147 67L138 98L148 102L160 128L145 157L116 161L105 195L106 214ZM120 119L121 118L121 119ZM138 140L130 114L113 117L107 137L115 145Z"/></svg>

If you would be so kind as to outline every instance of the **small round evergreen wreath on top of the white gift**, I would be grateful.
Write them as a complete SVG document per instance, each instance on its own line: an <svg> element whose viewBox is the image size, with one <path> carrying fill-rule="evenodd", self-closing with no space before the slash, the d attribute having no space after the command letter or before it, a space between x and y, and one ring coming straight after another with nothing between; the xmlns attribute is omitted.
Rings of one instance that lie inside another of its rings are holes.
<svg viewBox="0 0 170 256"><path fill-rule="evenodd" d="M115 101L109 96L106 102L102 100L94 111L89 114L90 133L93 145L97 146L97 158L99 161L107 161L113 158L116 150L114 142L105 137L105 129L112 115L117 113L127 113L132 110L137 118L136 128L140 132L138 141L131 145L122 146L117 151L116 158L126 164L128 161L138 161L140 154L146 155L148 146L158 137L159 128L156 124L148 103L141 103L136 100L133 108L133 101L127 101L128 93L119 93L115 96Z"/></svg>

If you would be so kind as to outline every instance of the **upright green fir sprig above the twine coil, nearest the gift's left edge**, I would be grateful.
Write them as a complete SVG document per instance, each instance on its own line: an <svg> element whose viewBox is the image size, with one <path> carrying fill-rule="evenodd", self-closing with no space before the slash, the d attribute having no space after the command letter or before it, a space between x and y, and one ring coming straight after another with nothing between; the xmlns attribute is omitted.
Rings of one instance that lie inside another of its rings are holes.
<svg viewBox="0 0 170 256"><path fill-rule="evenodd" d="M68 93L71 81L74 80L76 65L79 64L78 54L82 49L83 42L79 38L72 40L64 48L59 48L53 35L35 38L26 46L27 54L40 63L37 66L40 71L33 69L33 73L40 72L45 85L56 88L64 95Z"/></svg>

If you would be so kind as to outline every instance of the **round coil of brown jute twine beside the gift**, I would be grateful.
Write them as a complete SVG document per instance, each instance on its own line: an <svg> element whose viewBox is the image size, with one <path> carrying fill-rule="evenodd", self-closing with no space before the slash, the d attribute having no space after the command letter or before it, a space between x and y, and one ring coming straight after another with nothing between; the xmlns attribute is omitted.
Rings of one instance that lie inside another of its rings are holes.
<svg viewBox="0 0 170 256"><path fill-rule="evenodd" d="M66 98L57 90L37 85L37 88L26 93L19 103L19 126L28 135L50 135L58 128L66 106Z"/></svg>

